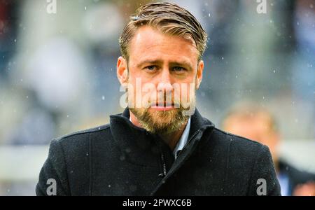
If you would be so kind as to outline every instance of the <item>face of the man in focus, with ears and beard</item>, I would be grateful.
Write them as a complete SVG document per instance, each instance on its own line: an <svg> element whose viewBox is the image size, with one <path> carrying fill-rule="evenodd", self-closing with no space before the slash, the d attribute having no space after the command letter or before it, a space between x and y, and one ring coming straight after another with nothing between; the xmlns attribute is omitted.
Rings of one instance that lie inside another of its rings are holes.
<svg viewBox="0 0 315 210"><path fill-rule="evenodd" d="M202 80L204 64L197 62L195 42L144 26L130 41L129 54L128 63L118 59L118 78L131 85L130 111L150 132L179 130L189 118L185 111L195 108L195 88Z"/></svg>

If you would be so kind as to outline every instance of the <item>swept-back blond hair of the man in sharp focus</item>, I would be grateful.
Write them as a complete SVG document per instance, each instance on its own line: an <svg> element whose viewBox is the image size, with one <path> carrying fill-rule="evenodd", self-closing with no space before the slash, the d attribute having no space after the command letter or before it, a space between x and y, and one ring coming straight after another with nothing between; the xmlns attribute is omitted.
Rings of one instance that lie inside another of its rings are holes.
<svg viewBox="0 0 315 210"><path fill-rule="evenodd" d="M175 3L148 3L138 8L136 14L130 17L130 22L125 26L119 38L120 52L125 59L129 59L128 45L135 32L144 25L172 36L193 38L198 50L198 61L207 47L206 31L188 10Z"/></svg>

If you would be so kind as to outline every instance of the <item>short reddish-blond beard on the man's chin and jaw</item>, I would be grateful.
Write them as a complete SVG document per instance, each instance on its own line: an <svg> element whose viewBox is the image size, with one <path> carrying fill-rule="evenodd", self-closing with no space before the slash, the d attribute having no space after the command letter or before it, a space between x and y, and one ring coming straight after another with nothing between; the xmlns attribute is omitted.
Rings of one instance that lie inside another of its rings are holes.
<svg viewBox="0 0 315 210"><path fill-rule="evenodd" d="M183 114L182 107L169 111L149 111L145 108L130 108L141 126L153 134L171 134L180 130L187 123L190 116Z"/></svg>

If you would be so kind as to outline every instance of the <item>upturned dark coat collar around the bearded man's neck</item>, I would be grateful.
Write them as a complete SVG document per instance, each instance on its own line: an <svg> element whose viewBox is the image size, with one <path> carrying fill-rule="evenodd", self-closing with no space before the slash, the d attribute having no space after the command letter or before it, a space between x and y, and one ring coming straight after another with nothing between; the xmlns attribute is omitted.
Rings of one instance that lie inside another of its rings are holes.
<svg viewBox="0 0 315 210"><path fill-rule="evenodd" d="M202 118L196 109L191 116L188 143L190 140L199 140L200 138L194 138L196 134L203 133L209 127L214 127L214 124L206 118ZM172 154L169 146L158 135L151 134L132 124L128 108L123 113L110 116L110 128L113 139L117 142L126 160L136 165L153 167L154 163L158 164L160 153Z"/></svg>

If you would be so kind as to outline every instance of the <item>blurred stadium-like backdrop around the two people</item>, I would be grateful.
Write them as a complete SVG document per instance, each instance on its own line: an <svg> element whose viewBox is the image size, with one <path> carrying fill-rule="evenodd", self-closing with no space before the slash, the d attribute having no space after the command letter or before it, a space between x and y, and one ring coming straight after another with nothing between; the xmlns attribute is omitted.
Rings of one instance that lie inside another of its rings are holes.
<svg viewBox="0 0 315 210"><path fill-rule="evenodd" d="M0 0L0 195L35 195L52 138L123 111L118 37L148 2ZM314 174L315 1L266 0L266 13L253 0L173 2L209 34L197 109L224 129L231 107L255 102L274 116L281 159Z"/></svg>

